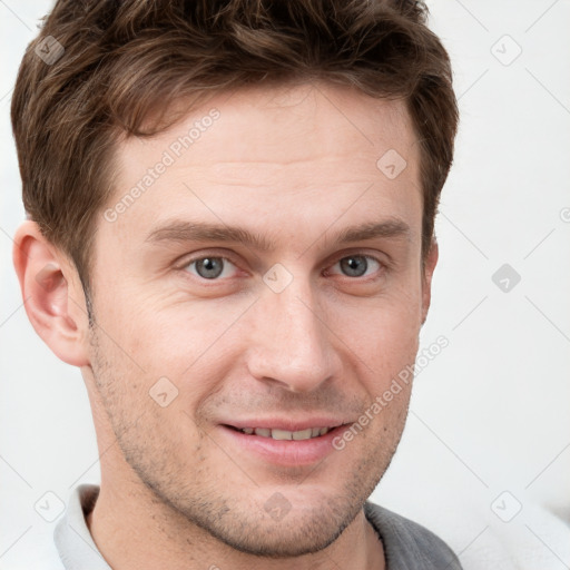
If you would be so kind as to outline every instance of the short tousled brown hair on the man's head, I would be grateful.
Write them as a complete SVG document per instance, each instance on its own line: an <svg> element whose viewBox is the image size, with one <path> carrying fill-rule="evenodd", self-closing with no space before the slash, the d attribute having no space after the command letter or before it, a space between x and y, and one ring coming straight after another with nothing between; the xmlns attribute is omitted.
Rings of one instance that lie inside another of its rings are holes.
<svg viewBox="0 0 570 570"><path fill-rule="evenodd" d="M458 125L450 60L426 17L413 0L59 0L12 97L26 210L87 293L120 136L158 132L165 121L149 117L184 97L318 79L405 99L421 147L425 257ZM65 52L42 60L53 38Z"/></svg>

